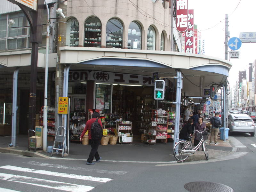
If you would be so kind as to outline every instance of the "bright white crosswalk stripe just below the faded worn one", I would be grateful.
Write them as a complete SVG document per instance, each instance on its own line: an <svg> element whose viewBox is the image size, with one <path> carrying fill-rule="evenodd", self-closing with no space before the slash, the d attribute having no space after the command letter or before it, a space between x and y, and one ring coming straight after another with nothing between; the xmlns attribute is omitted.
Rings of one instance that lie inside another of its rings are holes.
<svg viewBox="0 0 256 192"><path fill-rule="evenodd" d="M103 177L92 177L92 176L85 176L85 175L76 175L76 174L69 174L69 173L60 173L60 172L52 172L52 171L45 171L45 170L28 169L28 168L16 167L16 166L11 166L11 165L5 165L5 166L2 166L0 168L13 170L13 171L39 173L39 174L44 174L44 175L52 175L52 176L59 176L59 177L66 177L66 178L73 178L73 179L97 181L97 182L102 182L102 183L106 183L106 182L112 180L112 179L103 178Z"/></svg>

